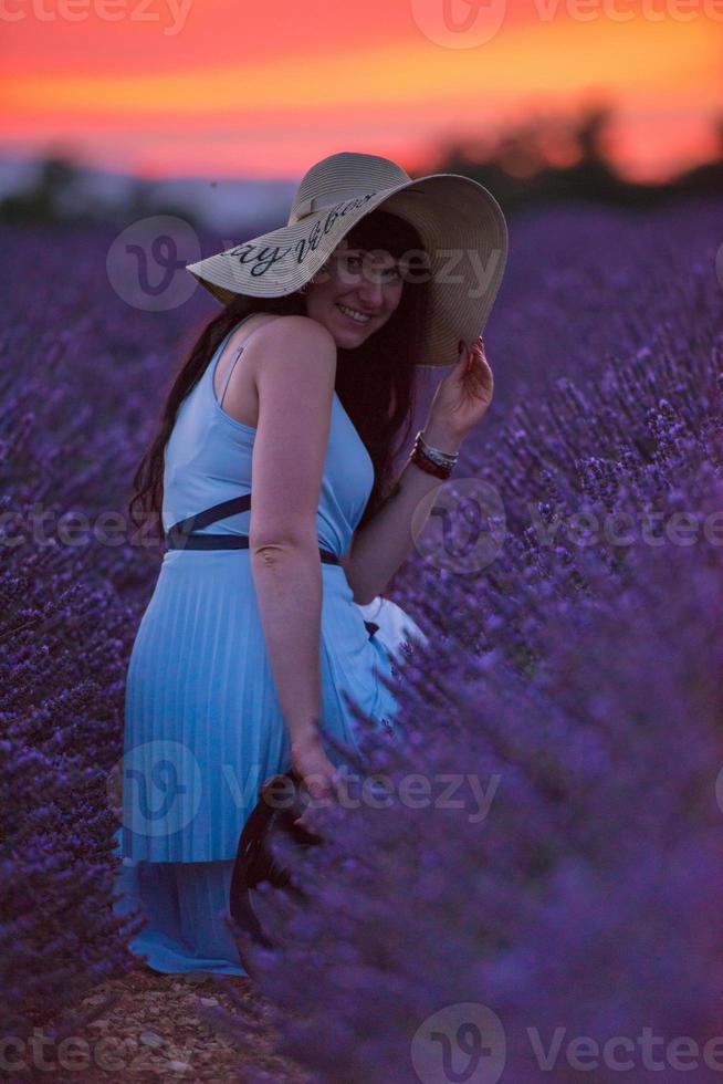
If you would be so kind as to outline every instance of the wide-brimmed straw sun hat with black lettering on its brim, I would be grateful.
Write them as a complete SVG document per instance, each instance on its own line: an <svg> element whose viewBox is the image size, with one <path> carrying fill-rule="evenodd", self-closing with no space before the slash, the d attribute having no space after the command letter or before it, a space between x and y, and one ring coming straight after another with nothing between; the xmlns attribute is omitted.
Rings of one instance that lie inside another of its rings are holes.
<svg viewBox="0 0 723 1084"><path fill-rule="evenodd" d="M459 174L412 179L378 155L340 152L308 169L286 226L251 238L187 271L220 302L279 298L305 285L360 219L384 205L416 227L430 280L419 365L451 365L459 340L482 335L507 260L507 227L494 196ZM419 281L419 264L412 281Z"/></svg>

